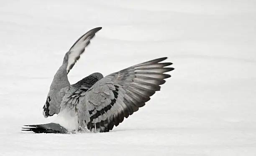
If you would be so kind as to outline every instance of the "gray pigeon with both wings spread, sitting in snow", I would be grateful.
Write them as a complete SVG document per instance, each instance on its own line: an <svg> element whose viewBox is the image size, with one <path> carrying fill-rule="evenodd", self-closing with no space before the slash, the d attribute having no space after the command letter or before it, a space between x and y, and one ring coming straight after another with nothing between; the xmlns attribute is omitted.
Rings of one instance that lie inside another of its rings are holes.
<svg viewBox="0 0 256 156"><path fill-rule="evenodd" d="M108 132L123 122L124 117L138 111L160 90L170 62L162 57L134 65L103 77L93 73L76 84L70 84L67 74L80 58L90 40L102 27L94 28L80 37L65 54L63 63L54 75L44 117L56 116L49 124L24 125L23 131L35 133L72 133L76 131ZM159 63L161 62L161 63Z"/></svg>

